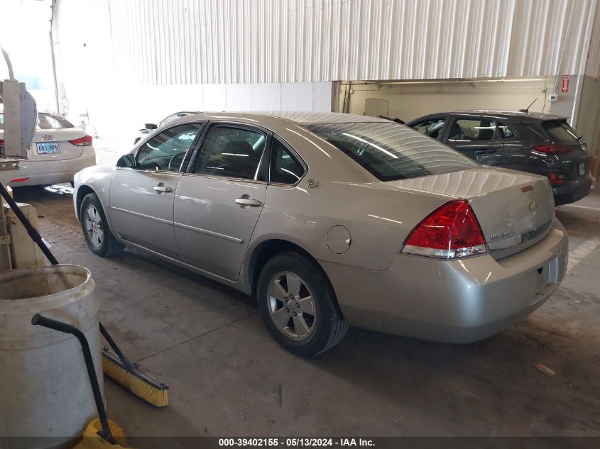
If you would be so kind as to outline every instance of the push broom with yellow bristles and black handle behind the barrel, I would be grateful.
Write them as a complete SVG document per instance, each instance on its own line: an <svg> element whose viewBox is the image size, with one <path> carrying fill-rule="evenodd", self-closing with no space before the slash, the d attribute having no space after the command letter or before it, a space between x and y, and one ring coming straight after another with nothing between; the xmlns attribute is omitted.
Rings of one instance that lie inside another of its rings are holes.
<svg viewBox="0 0 600 449"><path fill-rule="evenodd" d="M23 215L16 202L12 199L9 192L0 182L0 194L11 207L19 221L26 228L31 239L40 247L42 253L48 258L52 265L58 265L58 260L54 257L50 249L45 245L40 233L34 228L27 217ZM107 340L112 350L105 347L102 350L102 371L107 377L125 389L140 397L144 401L157 407L169 405L168 384L159 382L145 372L139 370L137 363L129 361L116 345L110 334L100 323L100 333Z"/></svg>

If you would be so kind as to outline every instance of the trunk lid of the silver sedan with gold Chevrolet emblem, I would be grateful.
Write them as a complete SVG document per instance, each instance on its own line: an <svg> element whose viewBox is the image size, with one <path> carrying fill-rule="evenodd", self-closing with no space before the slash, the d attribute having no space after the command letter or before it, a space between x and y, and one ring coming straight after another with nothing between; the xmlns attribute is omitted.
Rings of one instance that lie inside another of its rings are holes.
<svg viewBox="0 0 600 449"><path fill-rule="evenodd" d="M537 243L550 231L554 219L550 182L535 174L478 167L383 184L393 189L469 200L488 249L496 259Z"/></svg>

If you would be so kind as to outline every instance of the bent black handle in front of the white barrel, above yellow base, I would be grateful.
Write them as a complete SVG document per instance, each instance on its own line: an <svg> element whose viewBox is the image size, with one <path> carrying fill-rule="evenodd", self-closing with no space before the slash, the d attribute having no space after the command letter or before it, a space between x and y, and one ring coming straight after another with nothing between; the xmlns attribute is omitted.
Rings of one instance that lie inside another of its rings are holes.
<svg viewBox="0 0 600 449"><path fill-rule="evenodd" d="M112 436L110 431L109 421L107 418L107 411L104 409L104 402L102 401L102 392L100 392L100 385L98 384L98 378L96 376L96 370L94 370L94 360L92 360L92 353L89 351L89 344L87 338L85 338L82 331L77 329L75 326L71 326L62 321L56 321L51 318L46 318L40 314L33 315L31 318L31 324L33 326L43 326L48 329L53 329L62 333L70 333L80 341L81 350L83 352L83 359L85 361L85 367L87 368L87 376L89 377L89 383L92 384L92 392L94 392L94 401L96 401L96 408L98 410L98 417L100 418L100 424L102 425L102 431L98 432L98 435L107 440L111 444L116 444L116 440Z"/></svg>

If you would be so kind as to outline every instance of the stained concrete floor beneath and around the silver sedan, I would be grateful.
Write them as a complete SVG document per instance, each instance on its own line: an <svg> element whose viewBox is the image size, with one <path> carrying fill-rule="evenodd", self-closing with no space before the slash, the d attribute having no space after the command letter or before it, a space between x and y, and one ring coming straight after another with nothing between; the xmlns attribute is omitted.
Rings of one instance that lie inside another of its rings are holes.
<svg viewBox="0 0 600 449"><path fill-rule="evenodd" d="M131 250L92 255L69 193L15 196L60 262L92 270L125 352L170 384L171 405L154 409L106 382L129 436L600 436L600 189L557 211L570 270L522 323L474 345L351 328L311 360L280 349L243 294Z"/></svg>

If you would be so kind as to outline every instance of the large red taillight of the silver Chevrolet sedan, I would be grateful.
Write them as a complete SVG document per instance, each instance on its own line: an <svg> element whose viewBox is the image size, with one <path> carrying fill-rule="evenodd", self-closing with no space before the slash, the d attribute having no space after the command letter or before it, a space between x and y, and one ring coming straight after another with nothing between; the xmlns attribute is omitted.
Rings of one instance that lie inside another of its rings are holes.
<svg viewBox="0 0 600 449"><path fill-rule="evenodd" d="M421 221L404 242L403 253L451 259L486 252L486 239L469 201L449 201Z"/></svg>

